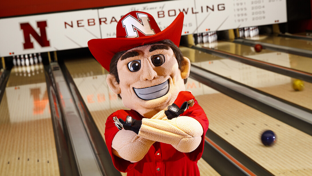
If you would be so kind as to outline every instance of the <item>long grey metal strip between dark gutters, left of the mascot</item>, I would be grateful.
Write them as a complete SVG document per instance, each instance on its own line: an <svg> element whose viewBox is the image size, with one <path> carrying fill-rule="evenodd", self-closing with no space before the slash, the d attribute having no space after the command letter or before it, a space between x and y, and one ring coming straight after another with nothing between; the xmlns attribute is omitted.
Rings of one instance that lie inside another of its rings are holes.
<svg viewBox="0 0 312 176"><path fill-rule="evenodd" d="M79 112L74 104L73 97L64 79L61 68L57 63L51 63L51 76L53 77L57 98L62 102L61 111L64 126L69 133L69 140L73 149L79 175L104 175L100 169L92 144L85 131Z"/></svg>

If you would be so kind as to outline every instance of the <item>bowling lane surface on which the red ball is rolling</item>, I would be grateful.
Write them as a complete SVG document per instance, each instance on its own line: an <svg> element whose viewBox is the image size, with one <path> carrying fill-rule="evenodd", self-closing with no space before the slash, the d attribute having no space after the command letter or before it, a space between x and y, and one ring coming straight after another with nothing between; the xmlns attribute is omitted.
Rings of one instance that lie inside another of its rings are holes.
<svg viewBox="0 0 312 176"><path fill-rule="evenodd" d="M210 44L198 44L197 46L213 48L231 54L237 54L251 59L312 73L312 67L310 66L312 64L312 59L309 57L276 52L268 49L262 49L261 52L256 52L254 47L227 41L217 41Z"/></svg>

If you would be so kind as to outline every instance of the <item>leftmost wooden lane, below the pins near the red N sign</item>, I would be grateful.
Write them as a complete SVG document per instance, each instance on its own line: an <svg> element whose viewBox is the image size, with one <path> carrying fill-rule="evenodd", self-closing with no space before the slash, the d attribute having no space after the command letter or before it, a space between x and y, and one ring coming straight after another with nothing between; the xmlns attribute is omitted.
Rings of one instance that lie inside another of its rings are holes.
<svg viewBox="0 0 312 176"><path fill-rule="evenodd" d="M15 75L14 70L11 75ZM11 75L8 85L15 85L22 91L23 85L19 85ZM28 76L22 77L29 80ZM36 79L42 82L45 78L41 74ZM29 87L24 92L30 94ZM8 103L12 102L8 100L12 97L8 95L5 91L0 104L0 175L60 175L49 104L46 105L45 113L34 114L32 119L27 119L27 114L34 111L30 106L34 100L20 95L13 100L14 104L20 103L12 106L12 103Z"/></svg>

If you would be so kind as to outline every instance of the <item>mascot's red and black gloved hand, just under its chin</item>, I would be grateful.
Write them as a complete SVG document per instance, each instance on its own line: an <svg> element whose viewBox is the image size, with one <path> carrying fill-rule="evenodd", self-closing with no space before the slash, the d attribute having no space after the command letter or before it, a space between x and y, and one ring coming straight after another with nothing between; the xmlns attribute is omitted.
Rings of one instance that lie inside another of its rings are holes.
<svg viewBox="0 0 312 176"><path fill-rule="evenodd" d="M192 92L179 92L177 99L173 102L172 105L168 106L168 110L165 111L167 118L170 120L180 116L189 107L194 105L194 99L195 97L193 96Z"/></svg>

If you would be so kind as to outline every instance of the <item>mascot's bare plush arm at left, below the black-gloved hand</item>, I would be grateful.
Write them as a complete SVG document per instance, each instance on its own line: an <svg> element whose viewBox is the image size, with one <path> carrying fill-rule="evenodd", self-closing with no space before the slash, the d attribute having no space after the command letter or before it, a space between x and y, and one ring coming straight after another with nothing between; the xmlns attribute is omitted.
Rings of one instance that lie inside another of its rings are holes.
<svg viewBox="0 0 312 176"><path fill-rule="evenodd" d="M139 137L135 132L120 130L115 135L112 148L113 154L132 163L140 161L155 141Z"/></svg>

